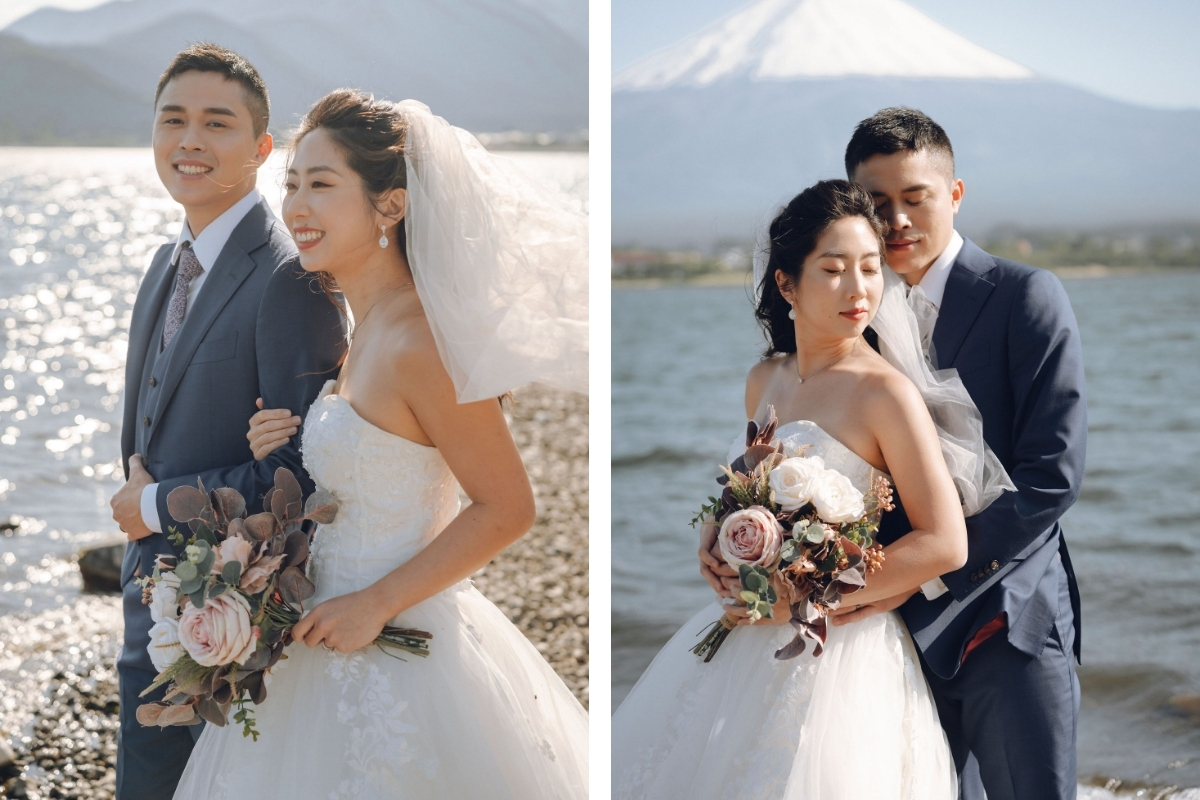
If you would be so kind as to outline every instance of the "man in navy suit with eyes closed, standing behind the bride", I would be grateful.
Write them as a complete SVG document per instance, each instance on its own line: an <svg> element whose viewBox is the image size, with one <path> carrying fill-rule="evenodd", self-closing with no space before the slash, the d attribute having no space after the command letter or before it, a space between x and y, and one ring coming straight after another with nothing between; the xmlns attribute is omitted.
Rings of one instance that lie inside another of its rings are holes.
<svg viewBox="0 0 1200 800"><path fill-rule="evenodd" d="M949 138L920 112L888 108L860 122L846 173L888 224L887 261L910 287L931 363L958 371L1016 491L966 521L961 570L838 624L900 609L964 800L1075 798L1080 608L1058 519L1079 497L1087 409L1070 303L1054 275L954 230L964 184ZM908 530L898 507L880 540Z"/></svg>

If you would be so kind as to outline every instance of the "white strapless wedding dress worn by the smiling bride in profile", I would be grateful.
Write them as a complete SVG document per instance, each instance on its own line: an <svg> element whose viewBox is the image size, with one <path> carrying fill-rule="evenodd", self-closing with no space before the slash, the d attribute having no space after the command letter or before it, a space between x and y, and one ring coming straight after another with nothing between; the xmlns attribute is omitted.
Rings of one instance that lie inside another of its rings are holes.
<svg viewBox="0 0 1200 800"><path fill-rule="evenodd" d="M366 422L331 385L304 426L305 467L340 504L313 541L308 608L374 583L458 511L436 449ZM290 645L250 706L258 741L206 726L176 800L587 796L587 712L469 581L391 624L433 633L428 657Z"/></svg>

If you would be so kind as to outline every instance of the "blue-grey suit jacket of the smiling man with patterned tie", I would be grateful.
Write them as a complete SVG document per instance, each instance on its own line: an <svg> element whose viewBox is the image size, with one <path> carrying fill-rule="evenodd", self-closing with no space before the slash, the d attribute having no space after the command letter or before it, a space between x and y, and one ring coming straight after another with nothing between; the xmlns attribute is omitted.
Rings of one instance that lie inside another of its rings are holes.
<svg viewBox="0 0 1200 800"><path fill-rule="evenodd" d="M263 494L280 467L295 473L306 494L312 492L299 437L256 462L246 432L258 397L264 408L287 408L304 416L322 385L337 377L346 332L341 313L300 266L292 237L259 201L212 265L175 335L167 371L152 387L154 401L139 409L144 367L158 345L157 324L174 285L172 252L172 245L163 245L155 254L133 306L121 457L128 476L138 427L144 427L140 455L158 481L163 531L174 525L186 534L187 527L167 510L167 494L176 486L196 486L197 479L209 489L238 489L251 513L262 511ZM156 554L174 552L164 534L131 543L121 571L126 594L140 594L137 584L130 585L139 563L142 573L149 575ZM131 608L138 619L128 619ZM121 663L152 669L145 650L149 613L136 613L132 603L126 609Z"/></svg>

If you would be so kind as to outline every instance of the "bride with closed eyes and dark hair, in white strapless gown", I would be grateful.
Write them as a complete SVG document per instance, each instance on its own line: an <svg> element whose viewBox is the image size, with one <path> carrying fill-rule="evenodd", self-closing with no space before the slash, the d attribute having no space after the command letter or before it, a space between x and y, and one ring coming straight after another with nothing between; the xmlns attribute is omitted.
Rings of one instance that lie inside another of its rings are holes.
<svg viewBox="0 0 1200 800"><path fill-rule="evenodd" d="M774 407L785 457L820 456L862 492L890 474L913 524L842 612L907 597L961 566L962 501L986 505L1007 480L956 374L931 373L920 356L904 290L881 260L883 234L864 190L822 181L775 218L768 259L756 265L764 266L757 315L770 347L748 377L746 414L761 421ZM872 321L887 357L863 339ZM725 463L744 449L739 438ZM958 798L954 760L900 616L834 622L820 656L810 642L779 661L775 651L796 634L786 599L773 619L749 625L744 606L728 600L736 573L714 573L714 537L706 527L702 572L725 600L676 633L613 716L613 796ZM706 663L692 648L724 613L739 625Z"/></svg>

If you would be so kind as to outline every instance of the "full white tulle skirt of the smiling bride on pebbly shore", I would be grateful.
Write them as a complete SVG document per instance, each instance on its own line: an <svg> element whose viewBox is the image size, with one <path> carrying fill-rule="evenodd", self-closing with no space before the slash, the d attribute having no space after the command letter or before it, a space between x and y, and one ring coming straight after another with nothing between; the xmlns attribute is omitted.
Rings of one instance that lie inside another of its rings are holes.
<svg viewBox="0 0 1200 800"><path fill-rule="evenodd" d="M175 799L587 796L587 712L496 606L463 582L392 624L431 654L290 645L258 741L206 726Z"/></svg>

